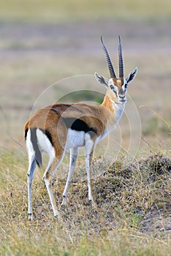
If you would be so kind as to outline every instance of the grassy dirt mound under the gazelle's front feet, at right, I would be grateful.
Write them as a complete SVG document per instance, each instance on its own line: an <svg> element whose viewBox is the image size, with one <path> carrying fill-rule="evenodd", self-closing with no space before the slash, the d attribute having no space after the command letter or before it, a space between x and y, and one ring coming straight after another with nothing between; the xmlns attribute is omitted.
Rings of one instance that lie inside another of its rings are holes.
<svg viewBox="0 0 171 256"><path fill-rule="evenodd" d="M94 168L99 162L94 162ZM153 236L171 236L170 173L171 159L161 154L134 162L125 170L117 161L94 179L96 208L88 205L86 181L71 184L69 208L61 208L64 221L85 223L84 228L88 221L98 231L126 227ZM64 183L58 181L58 197Z"/></svg>

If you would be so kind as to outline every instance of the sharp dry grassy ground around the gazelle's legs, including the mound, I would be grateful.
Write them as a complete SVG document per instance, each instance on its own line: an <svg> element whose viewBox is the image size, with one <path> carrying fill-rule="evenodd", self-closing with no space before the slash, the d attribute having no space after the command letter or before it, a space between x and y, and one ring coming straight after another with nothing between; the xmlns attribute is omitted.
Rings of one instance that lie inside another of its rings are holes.
<svg viewBox="0 0 171 256"><path fill-rule="evenodd" d="M20 157L25 159L23 164ZM26 155L1 154L1 255L170 255L171 159L151 154L121 168L94 159L96 208L88 205L84 166L61 208L65 179L53 191L62 220L53 218L42 171L34 179L34 221L27 221ZM82 177L82 178L80 178Z"/></svg>

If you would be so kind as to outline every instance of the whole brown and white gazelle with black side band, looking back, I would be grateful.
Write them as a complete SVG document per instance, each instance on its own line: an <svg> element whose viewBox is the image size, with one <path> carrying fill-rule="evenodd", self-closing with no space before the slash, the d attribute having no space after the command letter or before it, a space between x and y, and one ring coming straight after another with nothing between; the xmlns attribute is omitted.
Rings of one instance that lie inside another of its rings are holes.
<svg viewBox="0 0 171 256"><path fill-rule="evenodd" d="M38 110L25 125L25 140L28 150L28 219L32 219L31 187L34 170L42 165L42 154L49 156L44 173L47 192L50 197L55 217L59 217L56 200L53 197L52 176L62 162L64 154L70 151L69 174L63 193L62 205L66 205L67 190L75 169L77 151L85 147L86 171L88 178L88 199L94 203L91 184L91 162L94 146L99 140L115 128L120 120L126 104L128 83L137 74L135 68L127 78L123 78L123 56L121 39L118 37L119 78L116 78L109 53L101 37L102 49L107 59L110 79L95 73L99 83L106 86L106 94L102 105L86 104L54 104Z"/></svg>

